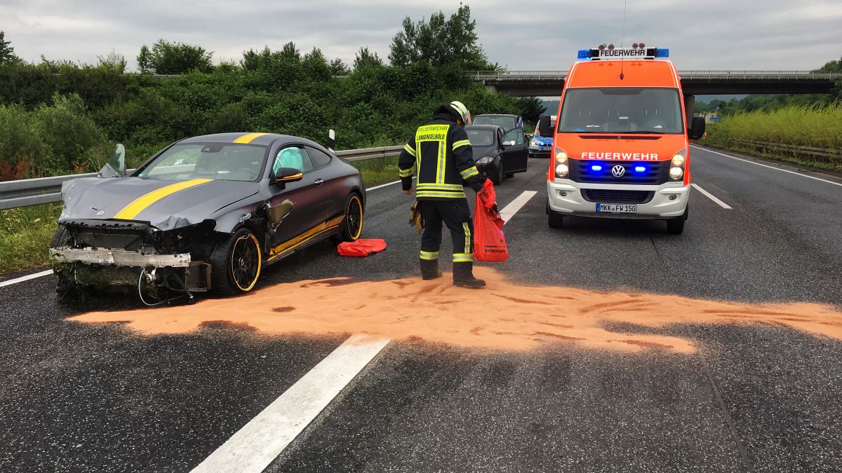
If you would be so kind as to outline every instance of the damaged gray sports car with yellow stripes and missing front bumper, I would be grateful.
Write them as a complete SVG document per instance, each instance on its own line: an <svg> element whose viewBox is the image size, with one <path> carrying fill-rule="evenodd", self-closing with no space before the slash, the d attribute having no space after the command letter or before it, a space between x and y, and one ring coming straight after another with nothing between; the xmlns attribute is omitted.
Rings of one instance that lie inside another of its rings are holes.
<svg viewBox="0 0 842 473"><path fill-rule="evenodd" d="M173 295L252 290L261 270L333 238L360 237L360 172L296 136L223 133L159 151L125 176L122 146L99 177L64 183L51 243L61 295L136 285L156 305Z"/></svg>

